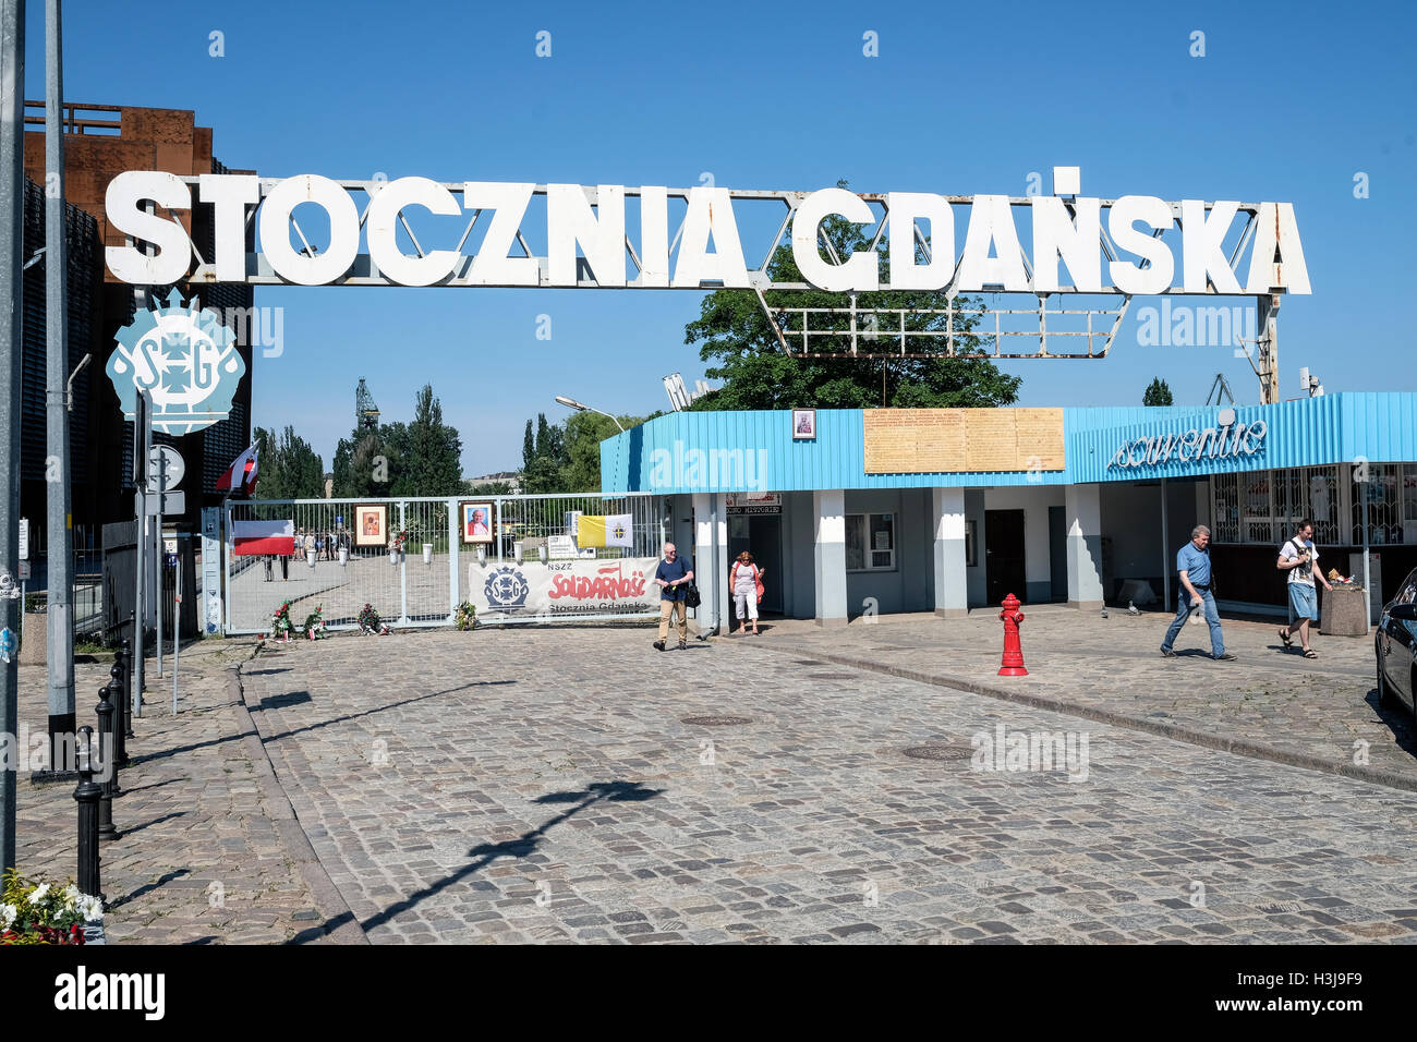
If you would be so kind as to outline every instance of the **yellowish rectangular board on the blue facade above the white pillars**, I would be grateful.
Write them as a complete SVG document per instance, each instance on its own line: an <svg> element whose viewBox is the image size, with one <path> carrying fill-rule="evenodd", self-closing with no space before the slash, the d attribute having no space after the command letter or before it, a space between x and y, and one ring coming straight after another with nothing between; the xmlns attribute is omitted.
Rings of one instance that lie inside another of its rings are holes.
<svg viewBox="0 0 1417 1042"><path fill-rule="evenodd" d="M1061 471L1061 408L869 408L866 474Z"/></svg>

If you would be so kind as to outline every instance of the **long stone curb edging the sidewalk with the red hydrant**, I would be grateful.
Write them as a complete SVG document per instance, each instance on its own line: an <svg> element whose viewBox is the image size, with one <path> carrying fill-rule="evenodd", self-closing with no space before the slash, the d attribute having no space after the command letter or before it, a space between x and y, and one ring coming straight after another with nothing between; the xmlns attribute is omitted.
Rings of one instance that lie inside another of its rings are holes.
<svg viewBox="0 0 1417 1042"><path fill-rule="evenodd" d="M816 648L795 642L781 642L781 644L764 642L752 646L791 655L809 656L820 659L822 662L832 662L840 666L853 666L856 669L866 669L873 673L886 673L887 676L898 676L903 680L931 683L935 685L937 688L954 688L955 690L965 690L972 695L986 695L988 698L1000 699L1003 702L1016 702L1019 705L1030 706L1033 709L1047 709L1054 713L1081 716L1087 720L1097 720L1098 723L1107 723L1115 727L1127 727L1131 730L1146 732L1149 734L1158 734L1163 739L1185 741L1186 744L1199 746L1202 749L1214 749L1217 751L1231 753L1234 756L1244 756L1250 757L1251 760L1268 760L1271 763L1280 763L1288 767L1302 767L1311 771L1322 771L1323 774L1336 774L1343 778L1353 778L1355 781L1367 781L1374 785L1384 785L1387 788L1400 788L1407 792L1417 792L1417 778L1410 778L1404 774L1397 774L1394 771L1374 770L1372 767L1360 767L1357 764L1335 763L1332 760L1325 760L1318 756L1294 753L1285 749L1278 749L1275 746L1265 746L1258 741L1248 741L1244 739L1227 739L1221 734L1212 734L1210 732L1197 730L1195 727L1187 727L1183 724L1162 723L1151 717L1132 716L1131 713L1118 713L1111 709L1098 709L1097 706L1083 706L1074 702L1053 699L1044 695L1033 695L1023 690L1010 690L1007 688L999 688L988 683L979 683L978 680L969 680L962 676L949 676L947 673L928 673L922 669L907 669L904 666L891 666L884 662L874 662L871 659L860 658L857 655L837 655L832 652L823 652L818 651Z"/></svg>

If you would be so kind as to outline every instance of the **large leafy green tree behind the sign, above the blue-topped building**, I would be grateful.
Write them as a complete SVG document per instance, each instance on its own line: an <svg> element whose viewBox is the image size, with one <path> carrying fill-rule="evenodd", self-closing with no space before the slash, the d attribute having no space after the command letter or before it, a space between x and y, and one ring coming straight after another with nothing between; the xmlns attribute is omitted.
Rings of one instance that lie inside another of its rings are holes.
<svg viewBox="0 0 1417 1042"><path fill-rule="evenodd" d="M845 181L837 181L846 187ZM864 225L842 217L829 217L822 231L839 257L864 251L870 241ZM825 259L830 259L823 254ZM920 254L922 259L922 254ZM888 279L888 264L880 254L881 284ZM789 245L779 245L768 265L772 279L803 282ZM769 308L840 308L840 293L828 292L768 292ZM859 293L859 310L871 309L942 309L948 305L944 292L879 291ZM956 308L978 306L978 301L955 298ZM813 329L849 329L850 319L813 316ZM968 330L978 325L978 316L955 316L955 329ZM830 323L830 325L829 325ZM857 329L862 327L857 319ZM944 329L944 315L907 316L907 332ZM874 333L874 343L883 352L890 349L890 332ZM941 337L942 339L942 337ZM789 357L782 352L777 330L764 313L751 289L718 289L704 296L700 315L684 326L684 343L699 344L699 356L716 364L706 376L724 380L724 386L694 401L694 410L744 408L870 408L890 405L908 407L992 407L1007 405L1019 398L1020 377L1000 373L983 357L932 359L852 359L845 354ZM825 343L825 340L823 340ZM918 340L913 342L918 343ZM836 337L833 350L849 347L847 337ZM975 336L956 336L955 349L962 354L983 350Z"/></svg>

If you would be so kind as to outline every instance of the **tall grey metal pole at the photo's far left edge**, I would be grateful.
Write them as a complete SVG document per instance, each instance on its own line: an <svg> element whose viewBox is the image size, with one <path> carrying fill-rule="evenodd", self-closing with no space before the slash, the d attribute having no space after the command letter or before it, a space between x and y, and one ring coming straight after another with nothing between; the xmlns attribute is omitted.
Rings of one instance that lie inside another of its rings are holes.
<svg viewBox="0 0 1417 1042"><path fill-rule="evenodd" d="M20 561L20 387L24 381L24 0L0 0L0 577ZM18 600L0 597L4 637L20 631ZM0 733L18 732L20 656L0 662ZM18 751L18 750L16 750ZM0 770L0 872L14 868L18 771Z"/></svg>

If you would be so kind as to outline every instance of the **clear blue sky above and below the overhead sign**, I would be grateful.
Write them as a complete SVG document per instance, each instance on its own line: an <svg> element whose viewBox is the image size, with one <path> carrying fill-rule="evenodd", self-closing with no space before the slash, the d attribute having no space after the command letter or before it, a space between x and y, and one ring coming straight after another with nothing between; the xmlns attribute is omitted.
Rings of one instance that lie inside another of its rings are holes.
<svg viewBox="0 0 1417 1042"><path fill-rule="evenodd" d="M27 17L37 98L43 4ZM214 30L224 57L210 55ZM541 30L550 58L536 55ZM1189 52L1197 30L1203 58ZM686 187L710 173L743 189L845 177L862 191L1019 196L1030 172L1047 190L1054 164L1077 164L1088 196L1292 201L1314 286L1280 316L1281 396L1295 397L1299 366L1329 391L1417 388L1414 30L1407 4L69 0L65 95L194 109L224 163L272 177ZM879 57L863 55L867 31ZM1353 194L1359 172L1367 198ZM557 394L666 408L660 377L703 374L683 343L700 299L261 288L258 305L285 309L285 352L256 357L254 418L293 424L329 465L360 377L390 420L432 383L465 474L514 469L527 417L564 418ZM1153 376L1199 404L1217 371L1257 400L1231 349L1144 347L1136 329L1101 362L1007 364L1022 404L1135 404Z"/></svg>

